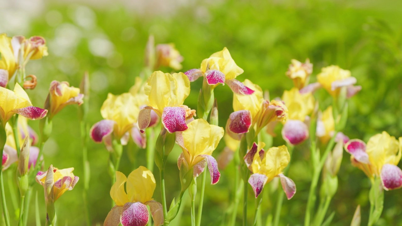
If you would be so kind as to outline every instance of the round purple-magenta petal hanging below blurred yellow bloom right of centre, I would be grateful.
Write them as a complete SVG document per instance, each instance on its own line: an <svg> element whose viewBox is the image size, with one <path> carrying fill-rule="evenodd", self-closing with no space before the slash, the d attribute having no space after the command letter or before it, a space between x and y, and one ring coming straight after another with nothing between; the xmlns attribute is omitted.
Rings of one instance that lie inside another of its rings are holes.
<svg viewBox="0 0 402 226"><path fill-rule="evenodd" d="M286 142L297 145L307 140L309 136L307 125L299 120L287 120L282 128L282 137Z"/></svg>

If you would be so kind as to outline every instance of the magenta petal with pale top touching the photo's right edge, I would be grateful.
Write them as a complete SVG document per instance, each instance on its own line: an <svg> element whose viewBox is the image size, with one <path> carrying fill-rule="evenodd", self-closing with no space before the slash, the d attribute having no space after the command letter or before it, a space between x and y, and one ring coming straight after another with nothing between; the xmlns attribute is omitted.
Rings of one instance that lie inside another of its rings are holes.
<svg viewBox="0 0 402 226"><path fill-rule="evenodd" d="M402 187L402 170L396 165L384 164L381 169L381 182L387 191Z"/></svg>

